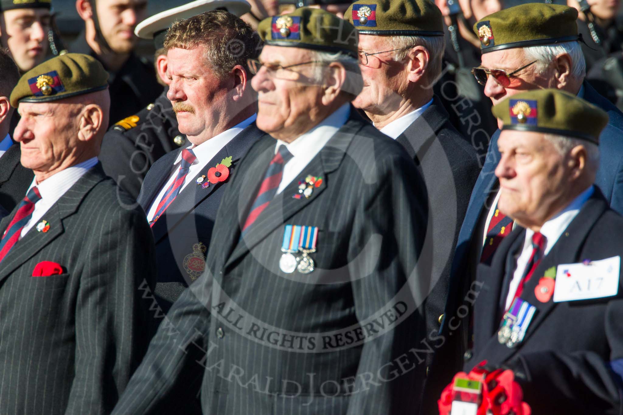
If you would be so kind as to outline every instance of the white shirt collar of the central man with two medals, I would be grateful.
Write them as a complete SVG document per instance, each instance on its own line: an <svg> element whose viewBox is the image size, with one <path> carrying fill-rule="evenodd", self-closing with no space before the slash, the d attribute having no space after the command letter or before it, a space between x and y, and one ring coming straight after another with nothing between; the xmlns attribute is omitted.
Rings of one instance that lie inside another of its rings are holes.
<svg viewBox="0 0 623 415"><path fill-rule="evenodd" d="M277 140L275 154L277 154L279 146L282 145L285 146L294 157L303 156L307 152L318 152L318 149L325 146L326 142L333 137L333 134L337 133L338 129L346 124L348 117L350 117L350 103L340 106L340 108L334 111L330 116L323 119L320 123L307 131L307 133L302 134L294 141L285 142Z"/></svg>

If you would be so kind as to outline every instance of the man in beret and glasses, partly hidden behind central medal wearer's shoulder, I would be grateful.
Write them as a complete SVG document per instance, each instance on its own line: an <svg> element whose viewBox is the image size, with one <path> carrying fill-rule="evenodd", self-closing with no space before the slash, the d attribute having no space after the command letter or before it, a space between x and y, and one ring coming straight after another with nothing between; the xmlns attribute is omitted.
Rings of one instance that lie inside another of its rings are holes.
<svg viewBox="0 0 623 415"><path fill-rule="evenodd" d="M346 11L346 20L359 32L363 75L363 90L353 105L402 144L426 182L434 241L427 333L439 330L452 253L480 172L476 149L450 124L432 90L444 55L442 19L427 0L359 0Z"/></svg>

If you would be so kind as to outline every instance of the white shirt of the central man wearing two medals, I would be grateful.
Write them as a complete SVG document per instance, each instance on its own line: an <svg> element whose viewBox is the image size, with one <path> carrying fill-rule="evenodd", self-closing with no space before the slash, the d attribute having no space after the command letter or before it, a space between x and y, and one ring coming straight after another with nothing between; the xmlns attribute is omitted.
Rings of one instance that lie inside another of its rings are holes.
<svg viewBox="0 0 623 415"><path fill-rule="evenodd" d="M316 157L316 154L318 154L331 137L337 133L338 129L346 124L349 116L350 104L344 104L333 114L323 119L320 124L294 141L288 143L277 140L275 154L277 154L279 146L283 145L287 147L288 151L290 151L293 156L292 159L283 166L283 175L281 177L281 183L277 188L277 194L283 192L283 189L301 174L305 166ZM309 172L309 174L312 173L313 172Z"/></svg>

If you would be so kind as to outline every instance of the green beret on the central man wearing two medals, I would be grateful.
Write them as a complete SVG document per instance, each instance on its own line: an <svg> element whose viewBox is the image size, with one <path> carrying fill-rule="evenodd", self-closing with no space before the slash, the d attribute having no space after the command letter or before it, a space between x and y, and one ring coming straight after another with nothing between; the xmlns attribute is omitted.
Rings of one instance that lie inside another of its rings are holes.
<svg viewBox="0 0 623 415"><path fill-rule="evenodd" d="M289 14L269 17L260 22L257 32L267 45L358 56L358 34L353 25L322 9L300 7Z"/></svg>

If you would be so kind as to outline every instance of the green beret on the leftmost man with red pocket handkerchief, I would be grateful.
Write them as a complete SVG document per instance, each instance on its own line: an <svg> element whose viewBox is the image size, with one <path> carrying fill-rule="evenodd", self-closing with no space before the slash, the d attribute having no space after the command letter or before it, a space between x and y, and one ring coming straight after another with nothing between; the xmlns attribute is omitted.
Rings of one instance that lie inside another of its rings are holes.
<svg viewBox="0 0 623 415"><path fill-rule="evenodd" d="M46 60L24 73L11 92L11 106L49 102L108 88L108 72L97 59L65 54Z"/></svg>

